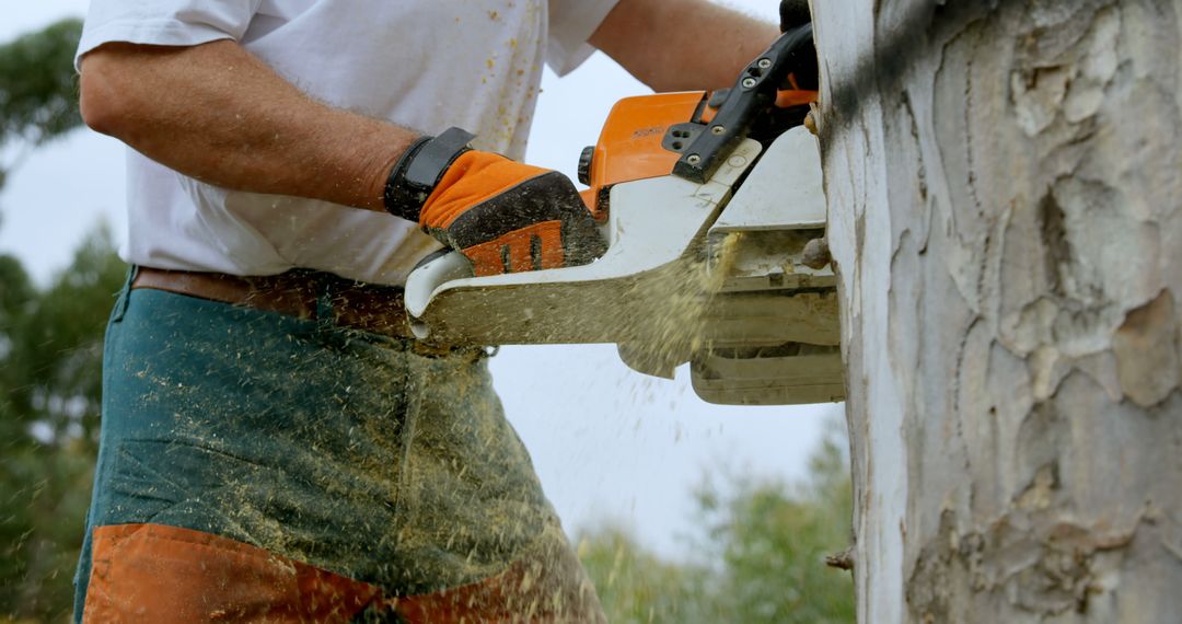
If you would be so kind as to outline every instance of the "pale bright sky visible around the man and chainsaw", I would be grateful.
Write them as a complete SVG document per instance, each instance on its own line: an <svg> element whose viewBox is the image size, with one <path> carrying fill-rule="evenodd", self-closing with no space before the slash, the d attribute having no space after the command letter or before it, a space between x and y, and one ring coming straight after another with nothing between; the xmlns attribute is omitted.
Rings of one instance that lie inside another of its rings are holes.
<svg viewBox="0 0 1182 624"><path fill-rule="evenodd" d="M11 2L0 41L67 15L85 0ZM777 19L772 0L728 2ZM619 98L648 90L596 54L572 74L548 70L527 161L574 175ZM99 220L123 240L123 148L89 130L34 152L0 193L0 252L19 256L43 284L67 265ZM569 532L612 521L664 554L695 532L693 488L707 475L799 477L826 416L839 405L721 408L700 401L689 371L677 379L629 370L610 345L506 347L492 360L509 420L533 454Z"/></svg>

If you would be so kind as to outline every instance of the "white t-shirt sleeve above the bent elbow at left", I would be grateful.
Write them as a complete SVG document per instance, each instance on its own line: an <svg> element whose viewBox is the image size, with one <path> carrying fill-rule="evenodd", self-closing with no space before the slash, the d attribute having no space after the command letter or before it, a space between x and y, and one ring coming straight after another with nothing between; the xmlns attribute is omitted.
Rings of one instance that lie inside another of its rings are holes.
<svg viewBox="0 0 1182 624"><path fill-rule="evenodd" d="M74 56L112 43L191 46L241 39L262 0L91 0Z"/></svg>

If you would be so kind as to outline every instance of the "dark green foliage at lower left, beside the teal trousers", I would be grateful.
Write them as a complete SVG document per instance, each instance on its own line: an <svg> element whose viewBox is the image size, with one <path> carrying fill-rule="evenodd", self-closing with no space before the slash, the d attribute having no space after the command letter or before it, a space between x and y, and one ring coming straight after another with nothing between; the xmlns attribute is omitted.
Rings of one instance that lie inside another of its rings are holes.
<svg viewBox="0 0 1182 624"><path fill-rule="evenodd" d="M103 330L125 272L105 228L47 288L0 256L0 619L61 620L71 609Z"/></svg>

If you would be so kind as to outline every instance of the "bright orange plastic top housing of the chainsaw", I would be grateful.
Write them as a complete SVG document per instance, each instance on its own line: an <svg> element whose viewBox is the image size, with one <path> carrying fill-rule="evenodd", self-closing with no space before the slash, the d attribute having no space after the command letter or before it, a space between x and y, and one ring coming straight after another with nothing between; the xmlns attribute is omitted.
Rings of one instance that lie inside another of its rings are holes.
<svg viewBox="0 0 1182 624"><path fill-rule="evenodd" d="M686 122L709 123L717 112L706 91L657 93L621 99L608 113L587 173L590 188L579 195L596 221L608 219L608 193L613 184L669 175L681 154L662 147L669 128ZM780 91L777 105L817 100L816 91Z"/></svg>

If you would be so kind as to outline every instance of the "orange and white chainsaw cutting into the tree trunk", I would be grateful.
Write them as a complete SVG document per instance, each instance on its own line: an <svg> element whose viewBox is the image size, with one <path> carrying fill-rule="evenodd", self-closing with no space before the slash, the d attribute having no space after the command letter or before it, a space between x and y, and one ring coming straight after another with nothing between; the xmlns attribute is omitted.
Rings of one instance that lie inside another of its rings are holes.
<svg viewBox="0 0 1182 624"><path fill-rule="evenodd" d="M734 86L632 97L579 158L608 251L590 265L473 277L441 252L408 277L420 340L613 343L634 370L720 404L840 401L837 281L813 252L826 204L816 91L795 89L787 33ZM793 89L781 89L782 86Z"/></svg>

